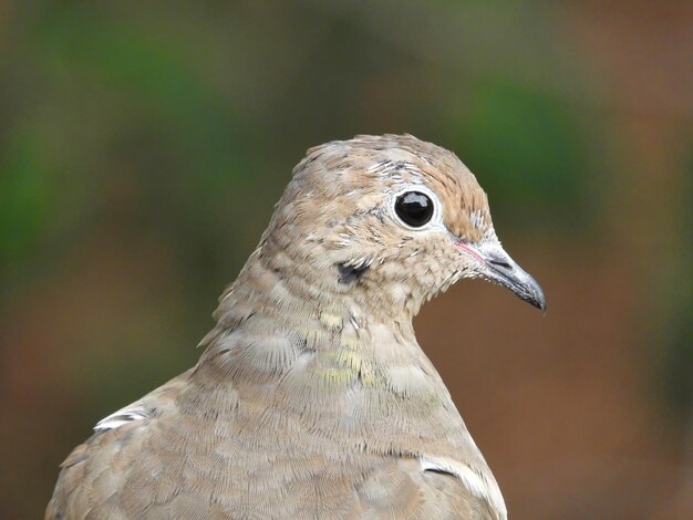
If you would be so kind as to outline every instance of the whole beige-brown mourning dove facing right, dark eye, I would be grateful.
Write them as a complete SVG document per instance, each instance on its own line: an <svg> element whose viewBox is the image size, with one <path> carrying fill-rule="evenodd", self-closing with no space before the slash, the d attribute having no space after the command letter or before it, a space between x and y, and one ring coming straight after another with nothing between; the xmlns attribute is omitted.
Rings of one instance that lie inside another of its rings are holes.
<svg viewBox="0 0 693 520"><path fill-rule="evenodd" d="M219 298L197 364L100 420L46 519L506 519L413 318L462 279L545 311L445 148L310 148Z"/></svg>

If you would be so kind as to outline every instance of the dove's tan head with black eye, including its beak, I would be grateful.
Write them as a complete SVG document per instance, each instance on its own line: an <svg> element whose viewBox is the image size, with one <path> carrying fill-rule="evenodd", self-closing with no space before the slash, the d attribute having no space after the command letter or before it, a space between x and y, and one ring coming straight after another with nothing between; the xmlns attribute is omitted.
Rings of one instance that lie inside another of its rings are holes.
<svg viewBox="0 0 693 520"><path fill-rule="evenodd" d="M311 148L260 250L316 294L417 312L462 278L546 309L539 284L503 249L486 194L451 152L413 136L358 136Z"/></svg>

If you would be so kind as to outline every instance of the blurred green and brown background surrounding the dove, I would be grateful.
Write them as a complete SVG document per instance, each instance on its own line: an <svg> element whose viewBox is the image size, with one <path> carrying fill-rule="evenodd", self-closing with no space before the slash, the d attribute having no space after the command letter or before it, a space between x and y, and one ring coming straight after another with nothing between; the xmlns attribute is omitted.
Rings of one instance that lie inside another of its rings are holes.
<svg viewBox="0 0 693 520"><path fill-rule="evenodd" d="M417 333L514 519L693 518L693 3L0 2L0 518L194 364L304 150L453 149L545 318Z"/></svg>

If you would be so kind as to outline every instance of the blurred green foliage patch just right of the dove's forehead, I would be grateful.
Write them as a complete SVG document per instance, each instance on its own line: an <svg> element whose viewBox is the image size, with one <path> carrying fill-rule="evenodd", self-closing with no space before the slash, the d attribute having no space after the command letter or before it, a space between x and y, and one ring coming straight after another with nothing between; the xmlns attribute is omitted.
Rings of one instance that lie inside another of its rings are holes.
<svg viewBox="0 0 693 520"><path fill-rule="evenodd" d="M458 114L455 149L484 186L498 214L518 225L555 219L586 226L589 174L585 139L570 110L548 95L503 80L479 82ZM521 200L521 206L517 201Z"/></svg>

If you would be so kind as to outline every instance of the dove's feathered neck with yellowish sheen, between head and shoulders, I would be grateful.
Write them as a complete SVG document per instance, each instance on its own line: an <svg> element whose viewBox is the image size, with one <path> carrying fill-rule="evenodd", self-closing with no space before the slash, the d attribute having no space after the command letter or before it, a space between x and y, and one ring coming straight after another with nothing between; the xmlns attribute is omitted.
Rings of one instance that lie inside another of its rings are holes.
<svg viewBox="0 0 693 520"><path fill-rule="evenodd" d="M254 254L221 297L217 326L203 342L209 351L203 361L229 354L236 370L252 378L279 376L309 356L323 367L346 363L340 367L344 375L348 368L358 373L363 363L430 365L410 310L383 305L363 291L330 290L319 277L311 283L302 274L279 271Z"/></svg>

